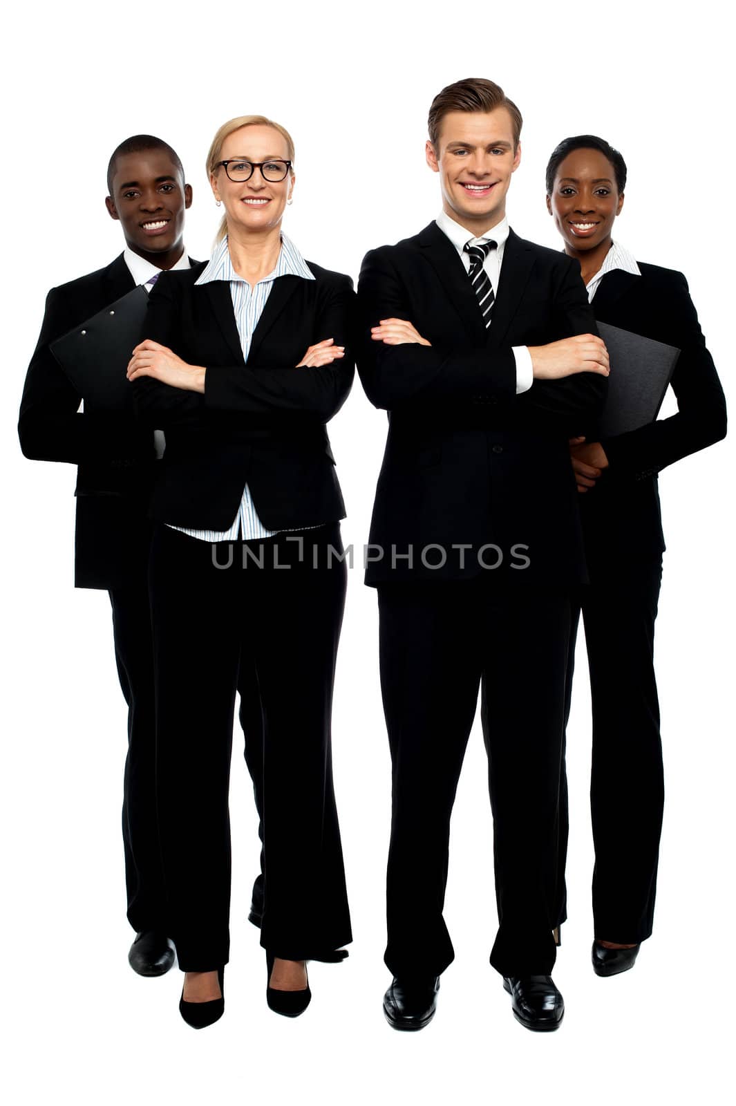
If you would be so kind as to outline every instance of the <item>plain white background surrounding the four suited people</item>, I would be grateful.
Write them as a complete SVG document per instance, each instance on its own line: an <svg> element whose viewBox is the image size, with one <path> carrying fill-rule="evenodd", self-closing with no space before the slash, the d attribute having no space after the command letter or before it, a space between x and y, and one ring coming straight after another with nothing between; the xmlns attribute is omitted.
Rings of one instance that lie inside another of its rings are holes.
<svg viewBox="0 0 736 1106"><path fill-rule="evenodd" d="M630 169L618 237L640 260L686 273L730 392L733 58L719 6L525 6L509 15L495 8L76 2L53 10L25 3L6 17L0 1079L12 1106L717 1103L727 1094L728 441L661 480L669 549L656 661L667 805L655 931L634 971L600 980L589 962L590 728L579 655L568 737L570 920L555 971L567 1003L560 1031L539 1035L517 1025L487 962L495 907L477 726L453 821L446 918L456 960L425 1031L388 1027L381 995L389 757L376 596L357 566L334 713L350 958L312 966L314 999L298 1020L266 1009L264 958L245 921L257 842L236 733L224 1018L193 1033L177 1012L180 973L140 979L126 961L133 935L119 842L125 710L108 601L72 587L74 470L25 461L15 436L46 290L106 264L122 248L103 204L118 142L148 132L179 152L194 189L187 246L203 258L218 221L203 170L214 129L244 113L284 123L296 142L297 173L285 229L305 257L356 278L367 249L414 233L439 209L438 179L423 155L432 96L460 77L488 76L525 117L508 197L516 231L558 246L545 209L546 159L566 135L609 139ZM386 416L356 383L329 431L349 512L344 538L356 547L367 538L385 430ZM197 679L197 656L182 672L189 679Z"/></svg>

